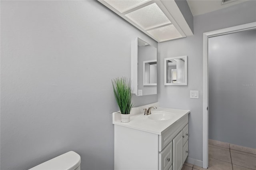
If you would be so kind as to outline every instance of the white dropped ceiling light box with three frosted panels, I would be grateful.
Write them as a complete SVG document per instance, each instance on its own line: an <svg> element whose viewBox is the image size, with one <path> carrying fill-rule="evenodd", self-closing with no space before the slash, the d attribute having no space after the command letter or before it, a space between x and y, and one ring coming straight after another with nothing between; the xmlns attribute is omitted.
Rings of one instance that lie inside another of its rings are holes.
<svg viewBox="0 0 256 170"><path fill-rule="evenodd" d="M174 0L98 1L157 42L193 35Z"/></svg>

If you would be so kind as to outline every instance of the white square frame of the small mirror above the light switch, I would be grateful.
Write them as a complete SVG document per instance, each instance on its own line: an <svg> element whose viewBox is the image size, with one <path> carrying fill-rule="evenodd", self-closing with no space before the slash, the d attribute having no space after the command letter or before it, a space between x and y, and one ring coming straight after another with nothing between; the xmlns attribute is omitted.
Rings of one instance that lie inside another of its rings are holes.
<svg viewBox="0 0 256 170"><path fill-rule="evenodd" d="M167 82L167 64L166 62L171 59L182 59L185 58L184 62L184 83L166 83ZM188 85L188 56L170 57L164 59L164 85Z"/></svg>

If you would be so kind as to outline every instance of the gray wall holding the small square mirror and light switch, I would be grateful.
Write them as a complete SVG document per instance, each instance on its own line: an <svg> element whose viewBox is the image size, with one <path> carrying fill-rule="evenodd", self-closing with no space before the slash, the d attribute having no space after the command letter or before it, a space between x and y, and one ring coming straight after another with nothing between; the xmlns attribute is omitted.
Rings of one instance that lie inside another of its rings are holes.
<svg viewBox="0 0 256 170"><path fill-rule="evenodd" d="M203 33L256 21L256 1L194 16L194 36L158 43L158 102L161 107L190 109L189 157L202 160ZM164 86L164 58L188 55L188 86ZM189 91L198 90L199 99Z"/></svg>

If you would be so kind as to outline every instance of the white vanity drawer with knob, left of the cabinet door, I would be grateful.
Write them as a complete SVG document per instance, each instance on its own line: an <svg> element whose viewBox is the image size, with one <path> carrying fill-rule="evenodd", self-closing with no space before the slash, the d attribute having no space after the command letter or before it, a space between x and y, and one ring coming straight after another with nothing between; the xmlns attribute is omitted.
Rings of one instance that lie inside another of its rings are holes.
<svg viewBox="0 0 256 170"><path fill-rule="evenodd" d="M172 142L159 153L159 170L169 170L172 165Z"/></svg>

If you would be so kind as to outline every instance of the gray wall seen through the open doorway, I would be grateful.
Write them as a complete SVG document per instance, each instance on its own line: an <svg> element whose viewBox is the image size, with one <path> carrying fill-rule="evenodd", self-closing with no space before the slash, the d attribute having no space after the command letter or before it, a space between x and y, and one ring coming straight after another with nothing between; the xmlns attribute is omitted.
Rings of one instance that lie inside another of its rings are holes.
<svg viewBox="0 0 256 170"><path fill-rule="evenodd" d="M209 138L256 148L256 30L208 43Z"/></svg>

